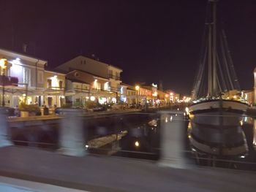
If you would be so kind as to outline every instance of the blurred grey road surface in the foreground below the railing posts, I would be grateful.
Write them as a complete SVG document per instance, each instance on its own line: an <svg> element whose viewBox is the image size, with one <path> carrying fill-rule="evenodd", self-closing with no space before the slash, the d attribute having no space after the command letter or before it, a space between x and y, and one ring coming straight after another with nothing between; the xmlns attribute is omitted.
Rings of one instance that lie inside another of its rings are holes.
<svg viewBox="0 0 256 192"><path fill-rule="evenodd" d="M0 175L81 191L256 191L255 172L173 169L155 161L101 155L70 157L15 146L0 148Z"/></svg>

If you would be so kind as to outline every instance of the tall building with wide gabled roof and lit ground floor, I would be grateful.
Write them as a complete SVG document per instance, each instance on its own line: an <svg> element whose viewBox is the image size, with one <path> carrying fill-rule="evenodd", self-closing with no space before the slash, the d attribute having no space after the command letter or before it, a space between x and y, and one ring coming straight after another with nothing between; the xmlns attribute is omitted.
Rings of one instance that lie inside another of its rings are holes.
<svg viewBox="0 0 256 192"><path fill-rule="evenodd" d="M103 104L109 102L116 103L121 101L121 96L123 98L124 93L121 93L120 77L122 69L116 66L80 55L57 66L56 69L67 73L67 79L71 82L90 85L89 91L80 92L80 99L82 98L84 101L86 101L86 98L94 100L95 97L100 104ZM68 85L71 86L72 83ZM67 90L72 91L72 86L70 86L67 87ZM76 93L78 93L78 90ZM78 100L76 93L73 96L69 96L69 101L74 102Z"/></svg>

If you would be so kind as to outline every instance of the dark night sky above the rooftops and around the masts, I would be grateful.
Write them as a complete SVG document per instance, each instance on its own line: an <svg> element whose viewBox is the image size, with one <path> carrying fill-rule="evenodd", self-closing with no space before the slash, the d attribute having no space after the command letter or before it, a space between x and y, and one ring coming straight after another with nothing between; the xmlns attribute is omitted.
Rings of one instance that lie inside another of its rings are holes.
<svg viewBox="0 0 256 192"><path fill-rule="evenodd" d="M200 56L207 0L1 0L0 47L28 53L54 68L95 54L124 70L123 82L159 82L190 93ZM252 89L256 64L256 1L220 0L242 89Z"/></svg>

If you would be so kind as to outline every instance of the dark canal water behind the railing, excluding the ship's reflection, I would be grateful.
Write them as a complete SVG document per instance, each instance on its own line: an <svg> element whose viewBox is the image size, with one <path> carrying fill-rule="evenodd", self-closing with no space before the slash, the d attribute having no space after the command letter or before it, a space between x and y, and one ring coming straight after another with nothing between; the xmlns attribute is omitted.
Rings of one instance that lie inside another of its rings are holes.
<svg viewBox="0 0 256 192"><path fill-rule="evenodd" d="M117 155L127 158L141 158L157 161L160 158L160 115L156 113L131 113L98 118L84 118L85 150L89 153ZM187 137L188 121L184 123L182 141L184 157L191 164L217 166L229 169L256 171L256 125L255 120L247 118L242 129L249 148L247 155L241 157L213 157L192 152ZM16 145L56 150L59 148L59 122L52 122L45 128L26 126L12 127L11 136ZM102 144L103 142L103 144ZM99 145L101 144L101 145ZM214 158L214 161L213 161Z"/></svg>

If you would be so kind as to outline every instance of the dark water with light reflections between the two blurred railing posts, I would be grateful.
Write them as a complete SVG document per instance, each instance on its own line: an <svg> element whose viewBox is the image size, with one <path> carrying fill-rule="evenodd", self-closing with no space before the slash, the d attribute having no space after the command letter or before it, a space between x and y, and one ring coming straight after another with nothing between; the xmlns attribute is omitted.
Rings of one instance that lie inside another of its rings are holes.
<svg viewBox="0 0 256 192"><path fill-rule="evenodd" d="M159 158L157 114L124 115L121 118L93 120L89 124L91 139L86 145L90 153L154 160Z"/></svg>

